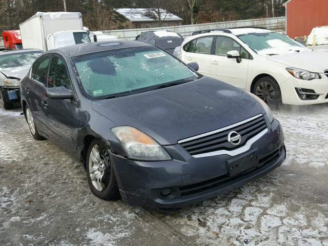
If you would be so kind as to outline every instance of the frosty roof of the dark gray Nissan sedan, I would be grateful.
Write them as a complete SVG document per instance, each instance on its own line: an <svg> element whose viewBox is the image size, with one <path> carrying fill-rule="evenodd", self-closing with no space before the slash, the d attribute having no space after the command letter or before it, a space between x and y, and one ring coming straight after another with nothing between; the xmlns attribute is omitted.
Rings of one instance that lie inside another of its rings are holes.
<svg viewBox="0 0 328 246"><path fill-rule="evenodd" d="M152 46L152 45L144 42L134 41L134 40L133 41L113 40L113 41L103 41L103 42L94 42L94 43L66 46L55 50L50 50L49 52L56 53L57 50L62 50L65 51L70 57L74 57L79 55L95 53L99 51L142 47L142 46Z"/></svg>

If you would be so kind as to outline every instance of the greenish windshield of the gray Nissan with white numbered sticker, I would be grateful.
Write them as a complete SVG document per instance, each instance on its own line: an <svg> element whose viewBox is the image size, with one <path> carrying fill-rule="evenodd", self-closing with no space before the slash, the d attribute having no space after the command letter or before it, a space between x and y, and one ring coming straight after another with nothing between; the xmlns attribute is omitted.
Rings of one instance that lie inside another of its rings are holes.
<svg viewBox="0 0 328 246"><path fill-rule="evenodd" d="M178 59L153 46L101 51L74 57L73 61L84 91L99 99L197 78Z"/></svg>

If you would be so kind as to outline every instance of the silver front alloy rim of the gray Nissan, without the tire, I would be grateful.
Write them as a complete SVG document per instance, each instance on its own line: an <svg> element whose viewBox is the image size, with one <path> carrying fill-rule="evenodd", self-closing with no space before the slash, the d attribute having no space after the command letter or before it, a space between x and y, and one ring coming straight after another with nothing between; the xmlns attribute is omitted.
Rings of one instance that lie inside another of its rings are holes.
<svg viewBox="0 0 328 246"><path fill-rule="evenodd" d="M104 191L110 180L110 158L107 149L95 145L89 158L89 175L92 185L97 191Z"/></svg>

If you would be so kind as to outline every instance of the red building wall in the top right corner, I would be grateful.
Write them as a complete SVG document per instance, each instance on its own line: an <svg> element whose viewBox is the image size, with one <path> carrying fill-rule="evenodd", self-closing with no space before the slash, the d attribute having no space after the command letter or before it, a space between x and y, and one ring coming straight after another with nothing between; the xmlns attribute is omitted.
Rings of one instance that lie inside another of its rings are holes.
<svg viewBox="0 0 328 246"><path fill-rule="evenodd" d="M289 0L283 6L291 38L308 36L314 27L328 26L328 0Z"/></svg>

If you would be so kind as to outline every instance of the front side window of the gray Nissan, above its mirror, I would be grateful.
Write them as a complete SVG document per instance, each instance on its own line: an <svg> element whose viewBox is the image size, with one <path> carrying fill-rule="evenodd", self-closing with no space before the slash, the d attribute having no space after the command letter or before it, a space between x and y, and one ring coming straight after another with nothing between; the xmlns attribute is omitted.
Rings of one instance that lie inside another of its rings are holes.
<svg viewBox="0 0 328 246"><path fill-rule="evenodd" d="M65 66L65 61L57 56L52 56L49 75L48 75L48 87L64 86L71 90L71 79Z"/></svg>

